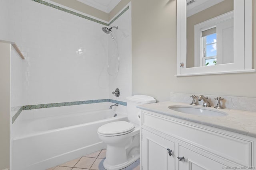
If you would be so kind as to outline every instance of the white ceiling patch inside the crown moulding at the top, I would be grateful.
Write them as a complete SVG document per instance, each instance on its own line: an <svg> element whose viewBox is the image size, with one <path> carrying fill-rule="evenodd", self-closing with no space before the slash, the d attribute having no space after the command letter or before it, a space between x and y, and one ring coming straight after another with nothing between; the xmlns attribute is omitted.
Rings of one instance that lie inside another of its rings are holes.
<svg viewBox="0 0 256 170"><path fill-rule="evenodd" d="M101 10L103 12L110 13L110 11L112 11L113 8L121 0L77 0L77 1L82 2L83 4L91 6L93 8L98 9L98 10Z"/></svg>

